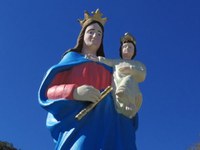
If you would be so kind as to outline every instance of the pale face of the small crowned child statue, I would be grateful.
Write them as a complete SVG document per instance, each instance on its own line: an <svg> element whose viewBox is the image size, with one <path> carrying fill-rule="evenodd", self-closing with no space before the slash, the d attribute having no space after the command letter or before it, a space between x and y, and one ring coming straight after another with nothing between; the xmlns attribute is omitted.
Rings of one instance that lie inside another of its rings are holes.
<svg viewBox="0 0 200 150"><path fill-rule="evenodd" d="M126 60L131 60L134 55L135 47L132 43L124 43L122 45L122 58Z"/></svg>

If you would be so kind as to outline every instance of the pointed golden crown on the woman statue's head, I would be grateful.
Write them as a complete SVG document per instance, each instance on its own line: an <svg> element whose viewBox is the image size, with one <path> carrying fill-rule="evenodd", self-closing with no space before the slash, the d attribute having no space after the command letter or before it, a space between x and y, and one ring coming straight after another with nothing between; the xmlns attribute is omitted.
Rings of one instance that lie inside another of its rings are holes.
<svg viewBox="0 0 200 150"><path fill-rule="evenodd" d="M91 12L91 13L92 13L92 15L90 15L87 11L85 11L84 19L83 20L78 19L78 21L82 27L85 26L90 20L98 21L102 25L104 25L106 23L107 18L101 18L103 14L100 12L99 9L97 9L95 12Z"/></svg>

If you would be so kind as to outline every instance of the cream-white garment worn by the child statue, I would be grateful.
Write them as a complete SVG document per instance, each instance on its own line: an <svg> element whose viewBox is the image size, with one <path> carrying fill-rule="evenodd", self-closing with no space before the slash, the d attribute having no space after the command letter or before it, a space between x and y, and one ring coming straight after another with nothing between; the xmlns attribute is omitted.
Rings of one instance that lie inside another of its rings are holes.
<svg viewBox="0 0 200 150"><path fill-rule="evenodd" d="M138 83L143 82L146 77L145 65L133 60L98 58L114 69L112 94L117 112L129 118L134 117L142 104Z"/></svg>

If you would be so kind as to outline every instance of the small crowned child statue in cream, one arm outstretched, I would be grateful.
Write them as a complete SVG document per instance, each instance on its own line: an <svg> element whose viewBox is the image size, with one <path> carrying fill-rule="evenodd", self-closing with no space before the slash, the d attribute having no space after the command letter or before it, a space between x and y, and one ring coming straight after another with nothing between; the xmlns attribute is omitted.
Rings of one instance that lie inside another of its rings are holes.
<svg viewBox="0 0 200 150"><path fill-rule="evenodd" d="M87 56L89 59L113 67L113 98L118 113L132 118L139 111L142 104L142 93L138 83L146 77L146 67L139 61L134 61L136 55L136 41L132 35L125 33L121 38L121 59L107 59L105 57Z"/></svg>

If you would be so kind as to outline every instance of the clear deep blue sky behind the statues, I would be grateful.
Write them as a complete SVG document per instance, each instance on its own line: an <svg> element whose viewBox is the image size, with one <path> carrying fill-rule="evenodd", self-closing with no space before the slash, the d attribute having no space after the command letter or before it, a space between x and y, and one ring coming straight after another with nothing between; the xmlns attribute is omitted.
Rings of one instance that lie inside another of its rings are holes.
<svg viewBox="0 0 200 150"><path fill-rule="evenodd" d="M147 66L138 150L184 150L200 141L199 0L1 0L0 140L22 150L54 148L37 91L46 70L74 47L76 20L96 8L108 17L106 56L119 58L128 31Z"/></svg>

